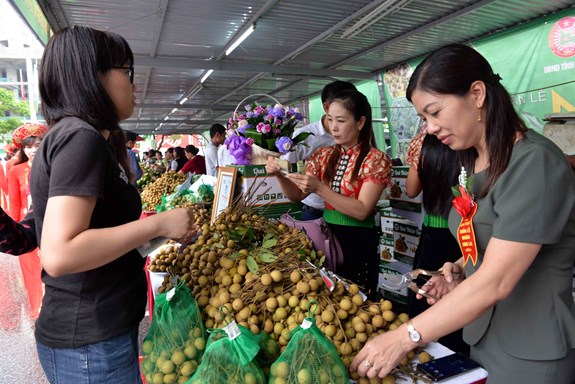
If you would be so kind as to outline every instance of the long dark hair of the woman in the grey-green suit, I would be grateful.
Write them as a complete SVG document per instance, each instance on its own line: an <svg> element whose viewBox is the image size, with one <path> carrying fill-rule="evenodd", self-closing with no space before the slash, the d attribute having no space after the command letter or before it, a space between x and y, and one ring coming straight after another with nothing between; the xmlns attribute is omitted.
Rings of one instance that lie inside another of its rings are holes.
<svg viewBox="0 0 575 384"><path fill-rule="evenodd" d="M507 168L516 133L527 132L527 126L517 114L511 96L500 80L487 60L475 49L467 45L451 44L433 52L419 64L407 86L407 99L411 101L416 89L463 97L469 92L473 82L482 81L485 84L483 106L490 165L487 180L478 197L484 197ZM460 151L459 155L468 174L472 174L477 158L475 148Z"/></svg>

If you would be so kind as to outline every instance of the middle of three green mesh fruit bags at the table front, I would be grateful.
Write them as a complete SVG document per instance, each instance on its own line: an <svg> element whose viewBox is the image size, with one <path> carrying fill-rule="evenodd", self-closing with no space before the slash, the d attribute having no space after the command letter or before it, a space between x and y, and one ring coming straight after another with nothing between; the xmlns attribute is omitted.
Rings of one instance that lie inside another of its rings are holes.
<svg viewBox="0 0 575 384"><path fill-rule="evenodd" d="M209 331L210 337L202 363L186 384L267 383L256 360L260 351L258 338L229 316L226 323L222 329Z"/></svg>

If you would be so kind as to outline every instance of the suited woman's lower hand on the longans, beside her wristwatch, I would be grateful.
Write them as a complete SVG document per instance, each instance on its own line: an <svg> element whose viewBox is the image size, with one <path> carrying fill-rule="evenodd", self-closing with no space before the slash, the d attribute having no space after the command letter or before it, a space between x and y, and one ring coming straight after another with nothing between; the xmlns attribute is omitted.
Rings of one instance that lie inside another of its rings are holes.
<svg viewBox="0 0 575 384"><path fill-rule="evenodd" d="M415 347L414 343L408 341L406 326L401 326L369 340L349 370L357 372L360 377L384 378Z"/></svg>

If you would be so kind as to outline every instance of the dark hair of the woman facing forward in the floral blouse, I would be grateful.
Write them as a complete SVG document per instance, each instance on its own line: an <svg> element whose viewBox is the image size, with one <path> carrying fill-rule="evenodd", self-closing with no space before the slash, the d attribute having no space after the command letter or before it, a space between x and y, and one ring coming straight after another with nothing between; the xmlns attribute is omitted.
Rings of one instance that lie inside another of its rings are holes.
<svg viewBox="0 0 575 384"><path fill-rule="evenodd" d="M363 160L369 153L371 147L375 147L375 138L373 135L373 124L371 118L371 105L363 93L354 89L346 89L336 93L328 100L328 103L331 104L334 101L341 102L343 107L352 113L356 122L359 121L362 116L365 117L365 123L359 132L358 138L358 144L360 145L359 156L355 162L355 166L351 174L351 181L355 181L357 180L357 176L359 174L359 170L361 169ZM336 146L336 149L332 151L328 159L323 180L328 185L331 183L333 177L335 176L335 169L341 155L341 148L339 147L340 146Z"/></svg>

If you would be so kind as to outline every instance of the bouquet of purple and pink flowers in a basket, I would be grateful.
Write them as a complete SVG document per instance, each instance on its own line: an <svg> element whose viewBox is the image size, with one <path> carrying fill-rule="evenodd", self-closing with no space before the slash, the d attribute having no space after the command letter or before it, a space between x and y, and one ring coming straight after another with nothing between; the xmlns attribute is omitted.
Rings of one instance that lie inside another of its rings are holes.
<svg viewBox="0 0 575 384"><path fill-rule="evenodd" d="M228 129L231 134L225 144L236 165L250 164L250 155L254 146L268 150L279 156L292 151L294 146L302 143L311 133L302 132L293 136L296 125L302 121L297 108L276 104L263 107L257 103L247 104L245 112L234 112Z"/></svg>

